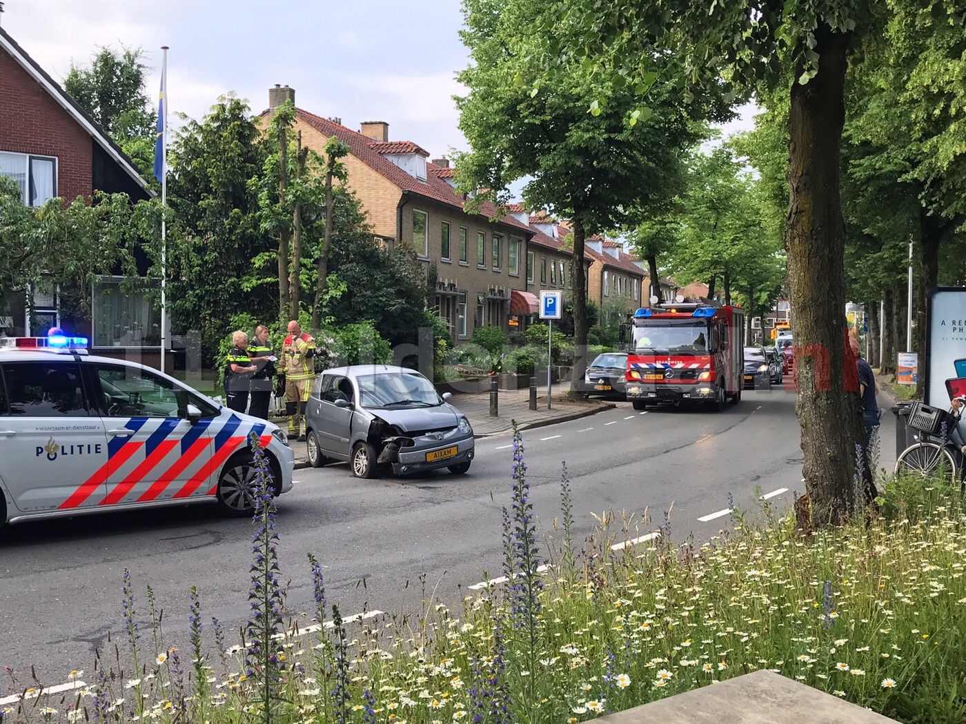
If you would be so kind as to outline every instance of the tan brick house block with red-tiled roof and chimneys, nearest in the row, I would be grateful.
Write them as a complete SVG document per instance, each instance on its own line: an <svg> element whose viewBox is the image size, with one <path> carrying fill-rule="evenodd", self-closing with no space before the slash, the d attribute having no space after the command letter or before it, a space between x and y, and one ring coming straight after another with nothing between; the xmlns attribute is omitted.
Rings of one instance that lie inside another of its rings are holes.
<svg viewBox="0 0 966 724"><path fill-rule="evenodd" d="M285 100L295 102L295 90L269 90L265 121ZM436 275L437 314L446 320L457 344L473 330L499 326L505 332L522 329L537 311L537 299L526 290L527 241L533 232L513 216L497 221L485 204L481 213L465 210L466 199L454 190L452 169L445 159L412 141L390 141L389 125L366 122L355 131L339 119L297 109L295 129L302 145L324 153L332 136L350 150L343 162L347 185L368 214L373 232L389 245L412 247L427 278Z"/></svg>

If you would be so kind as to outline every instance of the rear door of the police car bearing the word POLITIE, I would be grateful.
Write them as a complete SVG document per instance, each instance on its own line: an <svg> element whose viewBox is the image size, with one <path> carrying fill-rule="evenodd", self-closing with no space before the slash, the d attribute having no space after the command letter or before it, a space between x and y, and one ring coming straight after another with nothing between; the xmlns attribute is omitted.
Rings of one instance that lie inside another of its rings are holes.
<svg viewBox="0 0 966 724"><path fill-rule="evenodd" d="M0 477L21 513L96 506L103 497L108 449L80 364L5 362L0 408Z"/></svg>

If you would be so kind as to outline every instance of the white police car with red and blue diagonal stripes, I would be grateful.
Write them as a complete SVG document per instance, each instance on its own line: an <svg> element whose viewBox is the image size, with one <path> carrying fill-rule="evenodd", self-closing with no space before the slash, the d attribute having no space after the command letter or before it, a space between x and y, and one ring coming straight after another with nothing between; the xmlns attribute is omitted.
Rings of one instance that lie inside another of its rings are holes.
<svg viewBox="0 0 966 724"><path fill-rule="evenodd" d="M0 526L186 503L251 515L252 433L274 493L291 489L294 455L271 423L90 355L83 337L0 338Z"/></svg>

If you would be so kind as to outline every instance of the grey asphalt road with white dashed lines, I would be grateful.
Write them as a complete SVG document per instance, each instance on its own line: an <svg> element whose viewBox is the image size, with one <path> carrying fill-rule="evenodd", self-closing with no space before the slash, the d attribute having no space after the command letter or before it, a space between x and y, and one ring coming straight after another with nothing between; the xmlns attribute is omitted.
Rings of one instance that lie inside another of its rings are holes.
<svg viewBox="0 0 966 724"><path fill-rule="evenodd" d="M892 438L886 435L887 440ZM560 471L572 487L575 539L596 515L634 515L631 538L664 524L672 539L707 540L730 522L728 495L753 509L756 495L781 488L787 505L801 491L794 395L745 392L722 413L636 412L629 404L592 417L524 433L534 512L552 531L560 515ZM378 609L417 613L424 597L459 606L465 587L500 568L500 508L511 494L509 435L477 440L467 475L356 480L346 465L298 470L296 487L278 499L276 527L287 606L311 612L306 553L324 565L327 596L343 615ZM757 490L757 492L756 492ZM642 520L644 511L652 520ZM249 610L253 524L194 507L27 523L0 532L0 666L47 684L71 669L90 669L95 649L123 646L122 576L135 583L138 618L147 617L145 586L163 607L163 628L184 646L188 592L197 586L204 621L216 616L235 643ZM613 530L619 535L619 525ZM541 542L541 545L546 545ZM463 588L460 588L460 587ZM311 613L308 613L311 617ZM142 630L145 624L142 623ZM3 688L7 693L9 686Z"/></svg>

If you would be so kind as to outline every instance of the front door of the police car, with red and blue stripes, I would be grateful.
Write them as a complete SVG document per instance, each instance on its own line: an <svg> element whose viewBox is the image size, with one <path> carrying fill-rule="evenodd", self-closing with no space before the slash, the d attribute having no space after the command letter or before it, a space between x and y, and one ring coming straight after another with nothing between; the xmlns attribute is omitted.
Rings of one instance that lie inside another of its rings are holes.
<svg viewBox="0 0 966 724"><path fill-rule="evenodd" d="M212 418L187 420L188 393L134 365L91 365L110 454L101 505L151 503L207 492Z"/></svg>

